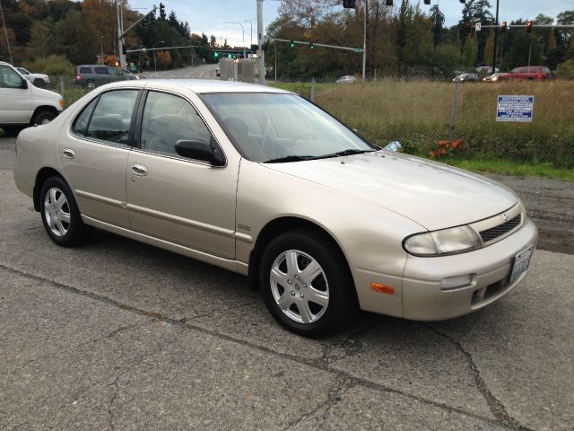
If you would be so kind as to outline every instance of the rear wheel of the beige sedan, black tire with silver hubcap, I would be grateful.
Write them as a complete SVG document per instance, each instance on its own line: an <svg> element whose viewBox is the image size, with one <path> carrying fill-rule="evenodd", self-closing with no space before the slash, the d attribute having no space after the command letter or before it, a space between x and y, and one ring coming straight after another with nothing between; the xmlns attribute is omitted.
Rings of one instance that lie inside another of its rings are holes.
<svg viewBox="0 0 574 431"><path fill-rule="evenodd" d="M50 190L53 189L57 190L55 195L56 198L60 198L60 196L63 195L66 200L64 207L58 210L58 214L55 214L57 208L47 205L47 195L51 192ZM63 247L74 247L75 245L82 244L89 239L93 232L93 228L83 224L82 216L80 216L80 211L78 210L78 206L75 202L74 194L65 180L62 180L60 177L48 178L48 180L46 180L42 185L39 198L39 211L42 216L42 223L44 224L44 228L46 229L48 236L53 242L56 242L57 245L61 245ZM67 217L69 219L68 222L64 221L64 216L66 214L69 215ZM62 220L61 226L63 229L59 231L60 234L55 233L52 227L50 227L50 220L48 217L51 219L53 216L55 220L58 218L61 218Z"/></svg>

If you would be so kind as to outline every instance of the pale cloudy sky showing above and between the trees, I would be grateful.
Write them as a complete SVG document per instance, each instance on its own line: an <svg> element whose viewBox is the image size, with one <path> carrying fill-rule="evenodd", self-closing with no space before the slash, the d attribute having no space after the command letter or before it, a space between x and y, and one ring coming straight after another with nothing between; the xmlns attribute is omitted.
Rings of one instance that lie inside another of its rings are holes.
<svg viewBox="0 0 574 431"><path fill-rule="evenodd" d="M251 28L253 28L253 43L257 43L257 0L161 0L166 6L166 12L175 11L180 21L187 21L191 31L207 36L212 34L220 42L228 41L231 46L245 46L251 43ZM491 12L495 13L496 0L490 0ZM398 4L400 0L396 0ZM429 8L421 0L421 8ZM159 0L129 0L132 8L140 13L152 9ZM263 2L263 18L265 27L277 18L277 9L281 4L278 0ZM341 1L343 4L343 1ZM454 25L460 19L463 4L459 0L431 0L431 4L439 4L445 14L447 26ZM343 6L341 6L343 7ZM396 6L395 6L396 7ZM535 18L538 13L555 17L566 10L574 10L574 0L500 0L499 21L511 22L518 18ZM251 24L246 21L250 20ZM223 22L239 22L239 24L224 24Z"/></svg>

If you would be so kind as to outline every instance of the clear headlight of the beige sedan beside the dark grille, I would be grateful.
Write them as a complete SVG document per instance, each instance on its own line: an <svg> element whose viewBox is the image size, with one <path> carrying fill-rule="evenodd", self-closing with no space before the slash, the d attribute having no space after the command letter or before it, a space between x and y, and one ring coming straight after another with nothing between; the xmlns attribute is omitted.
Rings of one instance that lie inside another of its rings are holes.
<svg viewBox="0 0 574 431"><path fill-rule="evenodd" d="M416 233L404 239L404 250L414 256L440 256L478 249L482 242L469 226Z"/></svg>

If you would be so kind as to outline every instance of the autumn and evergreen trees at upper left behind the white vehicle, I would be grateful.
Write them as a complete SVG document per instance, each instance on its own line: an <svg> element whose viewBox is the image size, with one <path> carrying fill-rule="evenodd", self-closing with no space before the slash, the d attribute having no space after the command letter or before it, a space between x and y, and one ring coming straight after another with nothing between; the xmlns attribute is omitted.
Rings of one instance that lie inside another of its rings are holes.
<svg viewBox="0 0 574 431"><path fill-rule="evenodd" d="M103 53L112 66L117 52L117 9L113 0L3 0L6 33L15 65L28 65L50 75L71 75L74 65L95 64ZM124 28L142 15L123 4ZM163 40L163 43L156 43ZM126 35L126 48L196 45L196 49L157 51L158 68L173 68L193 61L213 62L215 38L190 32L175 11L152 14ZM138 68L152 66L151 53L128 53L127 62ZM194 60L194 57L195 60ZM4 31L0 59L8 60Z"/></svg>

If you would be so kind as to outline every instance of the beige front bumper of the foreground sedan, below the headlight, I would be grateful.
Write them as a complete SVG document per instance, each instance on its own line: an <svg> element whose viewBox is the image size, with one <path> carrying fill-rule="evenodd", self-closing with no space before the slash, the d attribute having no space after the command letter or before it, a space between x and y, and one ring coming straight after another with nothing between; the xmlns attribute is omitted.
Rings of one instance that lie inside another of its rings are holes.
<svg viewBox="0 0 574 431"><path fill-rule="evenodd" d="M441 321L474 312L506 295L525 277L512 283L515 256L535 246L538 230L526 216L525 223L500 242L467 253L436 258L408 256L404 266L403 317L414 321ZM441 290L447 277L473 275L467 286Z"/></svg>

